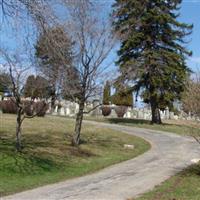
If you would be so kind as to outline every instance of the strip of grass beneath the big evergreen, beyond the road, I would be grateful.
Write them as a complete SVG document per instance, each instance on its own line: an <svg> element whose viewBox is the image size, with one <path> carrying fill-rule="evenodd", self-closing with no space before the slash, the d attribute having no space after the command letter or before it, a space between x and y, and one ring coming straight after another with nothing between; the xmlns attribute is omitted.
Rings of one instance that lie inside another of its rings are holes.
<svg viewBox="0 0 200 200"><path fill-rule="evenodd" d="M125 118L91 118L85 117L87 120L99 122L120 124L126 126L134 126L138 128L146 128L159 131L167 131L180 135L200 135L200 123L187 120L167 120L161 125L151 124L148 120L142 119L125 119Z"/></svg>

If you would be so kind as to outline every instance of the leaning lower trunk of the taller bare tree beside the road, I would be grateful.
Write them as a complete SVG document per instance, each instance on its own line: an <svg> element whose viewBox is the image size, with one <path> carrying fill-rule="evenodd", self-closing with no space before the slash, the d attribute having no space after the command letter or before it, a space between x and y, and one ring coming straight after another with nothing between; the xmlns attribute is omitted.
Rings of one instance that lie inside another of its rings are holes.
<svg viewBox="0 0 200 200"><path fill-rule="evenodd" d="M80 134L81 134L82 121L83 121L83 110L84 110L84 102L81 102L79 104L79 111L76 115L75 131L74 131L74 136L72 138L73 146L78 146L80 144Z"/></svg>

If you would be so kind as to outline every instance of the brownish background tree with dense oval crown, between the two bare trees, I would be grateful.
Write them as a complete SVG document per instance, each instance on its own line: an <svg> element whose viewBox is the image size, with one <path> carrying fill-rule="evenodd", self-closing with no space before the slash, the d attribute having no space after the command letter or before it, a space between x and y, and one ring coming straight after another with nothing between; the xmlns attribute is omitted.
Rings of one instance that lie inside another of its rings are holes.
<svg viewBox="0 0 200 200"><path fill-rule="evenodd" d="M73 43L62 26L51 27L41 33L35 45L37 69L51 86L51 110L61 93L63 72L69 70L73 60Z"/></svg>

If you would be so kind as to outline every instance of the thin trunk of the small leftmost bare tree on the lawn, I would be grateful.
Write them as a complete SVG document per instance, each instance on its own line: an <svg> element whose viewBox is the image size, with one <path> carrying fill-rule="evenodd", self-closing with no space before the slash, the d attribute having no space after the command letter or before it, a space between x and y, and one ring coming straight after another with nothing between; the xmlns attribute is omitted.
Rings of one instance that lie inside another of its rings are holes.
<svg viewBox="0 0 200 200"><path fill-rule="evenodd" d="M17 110L17 125L16 125L16 150L21 151L21 125L22 125L22 109Z"/></svg>

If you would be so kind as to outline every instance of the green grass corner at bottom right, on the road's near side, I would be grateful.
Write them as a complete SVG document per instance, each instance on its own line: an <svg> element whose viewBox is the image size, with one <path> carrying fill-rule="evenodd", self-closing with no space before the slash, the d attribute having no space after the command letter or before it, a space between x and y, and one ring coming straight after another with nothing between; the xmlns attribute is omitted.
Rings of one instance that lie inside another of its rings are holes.
<svg viewBox="0 0 200 200"><path fill-rule="evenodd" d="M171 177L137 200L199 200L200 164Z"/></svg>

